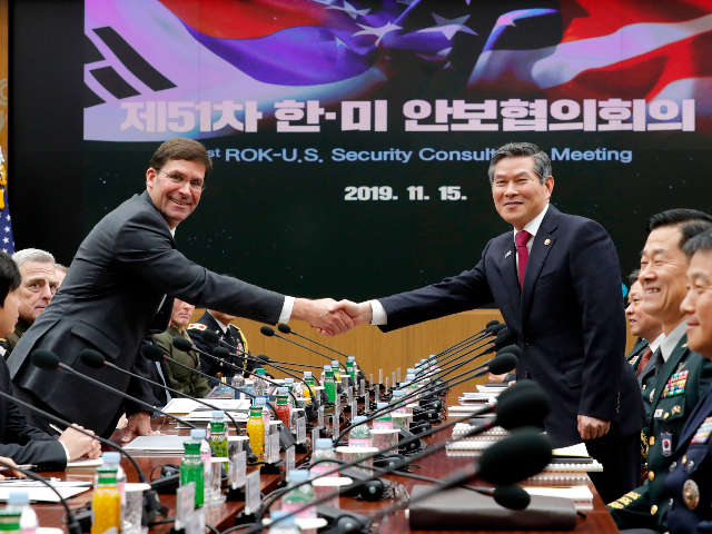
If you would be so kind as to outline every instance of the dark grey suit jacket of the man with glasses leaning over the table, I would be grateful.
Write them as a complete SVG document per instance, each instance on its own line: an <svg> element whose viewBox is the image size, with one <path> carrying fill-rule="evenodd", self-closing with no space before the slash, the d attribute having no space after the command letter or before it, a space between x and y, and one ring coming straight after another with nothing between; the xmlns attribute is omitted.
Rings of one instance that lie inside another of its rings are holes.
<svg viewBox="0 0 712 534"><path fill-rule="evenodd" d="M79 354L92 348L115 365L148 376L148 362L138 349L147 330L168 327L172 297L271 325L285 299L188 260L176 250L148 192L135 195L87 236L60 290L14 347L8 359L13 384L65 418L103 434L122 398L66 373L41 370L30 354L52 350L76 370L150 400L148 385L110 369L91 369ZM145 408L127 406L129 413L138 409Z"/></svg>

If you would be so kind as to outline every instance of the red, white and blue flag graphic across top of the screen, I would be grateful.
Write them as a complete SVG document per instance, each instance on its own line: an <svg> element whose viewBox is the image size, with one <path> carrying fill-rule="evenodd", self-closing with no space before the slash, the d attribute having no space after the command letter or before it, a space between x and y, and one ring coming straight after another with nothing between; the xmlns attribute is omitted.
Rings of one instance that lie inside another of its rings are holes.
<svg viewBox="0 0 712 534"><path fill-rule="evenodd" d="M694 100L712 132L709 0L87 0L86 36L87 139L172 137L121 102L374 97Z"/></svg>

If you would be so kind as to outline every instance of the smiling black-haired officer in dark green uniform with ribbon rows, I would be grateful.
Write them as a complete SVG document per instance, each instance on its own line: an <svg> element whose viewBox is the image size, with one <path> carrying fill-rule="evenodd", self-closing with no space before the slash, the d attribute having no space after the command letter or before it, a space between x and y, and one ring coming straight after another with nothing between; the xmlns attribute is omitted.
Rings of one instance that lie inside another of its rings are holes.
<svg viewBox="0 0 712 534"><path fill-rule="evenodd" d="M672 209L653 216L641 257L640 281L645 293L642 310L662 323L664 340L653 355L655 387L650 390L647 479L609 504L619 528L665 532L668 498L664 478L672 453L690 413L712 384L712 362L688 346L685 315L688 259L684 243L712 229L712 217L701 211Z"/></svg>

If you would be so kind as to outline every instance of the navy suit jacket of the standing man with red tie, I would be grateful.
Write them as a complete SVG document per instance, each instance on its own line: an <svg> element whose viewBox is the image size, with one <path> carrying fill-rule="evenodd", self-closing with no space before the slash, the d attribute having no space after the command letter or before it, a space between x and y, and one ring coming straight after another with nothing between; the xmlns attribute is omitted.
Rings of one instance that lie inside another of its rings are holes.
<svg viewBox="0 0 712 534"><path fill-rule="evenodd" d="M645 412L625 360L621 274L597 222L548 207L520 289L512 231L492 239L472 270L379 299L389 332L495 301L522 348L517 380L550 395L545 427L556 447L581 442L576 416L611 421L605 443L637 433Z"/></svg>

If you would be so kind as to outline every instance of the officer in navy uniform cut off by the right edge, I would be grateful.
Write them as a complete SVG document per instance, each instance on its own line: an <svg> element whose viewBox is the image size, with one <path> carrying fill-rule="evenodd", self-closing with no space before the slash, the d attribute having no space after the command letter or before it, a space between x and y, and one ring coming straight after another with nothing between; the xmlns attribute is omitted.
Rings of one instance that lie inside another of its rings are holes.
<svg viewBox="0 0 712 534"><path fill-rule="evenodd" d="M682 303L690 348L712 359L712 234L684 247L690 259L689 291ZM712 532L712 392L690 415L671 456L665 479L671 534Z"/></svg>

